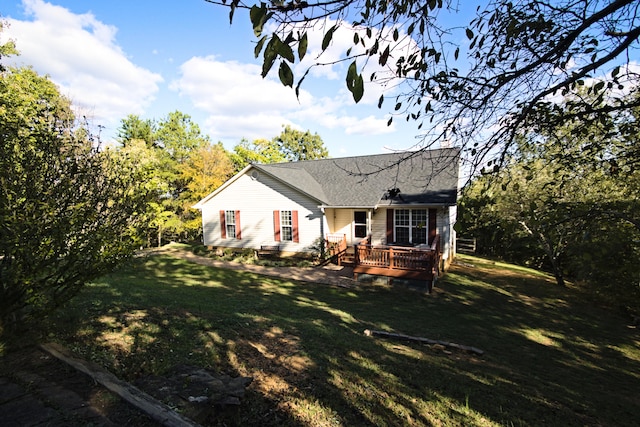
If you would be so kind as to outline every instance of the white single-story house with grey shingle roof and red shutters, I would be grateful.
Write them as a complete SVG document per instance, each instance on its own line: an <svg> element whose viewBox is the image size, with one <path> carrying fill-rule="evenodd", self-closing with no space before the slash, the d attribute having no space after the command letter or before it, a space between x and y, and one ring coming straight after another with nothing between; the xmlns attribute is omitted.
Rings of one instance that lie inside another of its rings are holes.
<svg viewBox="0 0 640 427"><path fill-rule="evenodd" d="M310 254L327 236L398 246L438 236L447 265L459 158L459 149L445 148L249 165L196 204L204 244Z"/></svg>

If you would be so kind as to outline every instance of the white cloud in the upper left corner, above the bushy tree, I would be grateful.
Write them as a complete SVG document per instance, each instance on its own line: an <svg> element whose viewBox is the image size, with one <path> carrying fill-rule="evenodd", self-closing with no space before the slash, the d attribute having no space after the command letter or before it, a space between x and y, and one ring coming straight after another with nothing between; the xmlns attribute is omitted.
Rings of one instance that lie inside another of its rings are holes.
<svg viewBox="0 0 640 427"><path fill-rule="evenodd" d="M153 101L162 77L127 58L115 27L43 0L23 5L30 20L9 20L7 31L20 51L13 63L49 75L81 114L114 123Z"/></svg>

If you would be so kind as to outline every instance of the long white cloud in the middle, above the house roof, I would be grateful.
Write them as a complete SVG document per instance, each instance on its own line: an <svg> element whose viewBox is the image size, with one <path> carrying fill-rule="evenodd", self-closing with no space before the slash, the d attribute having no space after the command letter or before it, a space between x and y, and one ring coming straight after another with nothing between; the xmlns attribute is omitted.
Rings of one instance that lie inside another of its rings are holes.
<svg viewBox="0 0 640 427"><path fill-rule="evenodd" d="M214 140L271 138L282 131L282 125L361 135L393 131L386 119L346 114L345 106L352 103L346 91L333 98L317 98L302 90L298 99L293 89L260 77L260 70L255 64L224 62L215 56L193 57L182 64L181 76L170 87L206 113L205 127Z"/></svg>

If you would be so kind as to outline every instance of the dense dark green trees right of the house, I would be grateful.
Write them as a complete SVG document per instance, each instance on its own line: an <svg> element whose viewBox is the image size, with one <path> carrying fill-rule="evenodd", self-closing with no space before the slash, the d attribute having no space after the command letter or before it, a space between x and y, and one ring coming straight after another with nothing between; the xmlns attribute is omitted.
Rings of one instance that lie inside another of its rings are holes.
<svg viewBox="0 0 640 427"><path fill-rule="evenodd" d="M624 102L638 105L635 89ZM640 108L572 115L575 100L537 114L574 117L530 127L502 163L489 165L460 199L457 229L480 254L554 274L603 301L640 311Z"/></svg>

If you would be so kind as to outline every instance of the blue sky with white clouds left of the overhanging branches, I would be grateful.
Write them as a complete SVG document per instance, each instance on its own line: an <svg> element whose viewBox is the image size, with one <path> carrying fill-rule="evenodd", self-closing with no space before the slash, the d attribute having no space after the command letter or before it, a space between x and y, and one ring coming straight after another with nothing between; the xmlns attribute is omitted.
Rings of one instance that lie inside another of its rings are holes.
<svg viewBox="0 0 640 427"><path fill-rule="evenodd" d="M0 37L21 52L11 62L49 75L80 114L104 126L103 140L129 114L161 119L179 110L227 149L242 138L271 139L283 125L318 133L332 157L418 142L414 123L387 126L387 110L377 108L393 89L369 86L356 105L342 65L310 75L300 99L276 73L262 79L244 11L230 25L226 9L204 0L5 0L0 15L9 23ZM351 38L336 35L330 50L339 55Z"/></svg>

